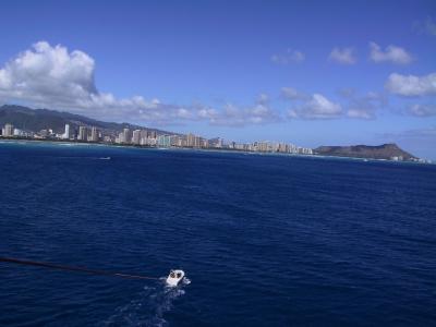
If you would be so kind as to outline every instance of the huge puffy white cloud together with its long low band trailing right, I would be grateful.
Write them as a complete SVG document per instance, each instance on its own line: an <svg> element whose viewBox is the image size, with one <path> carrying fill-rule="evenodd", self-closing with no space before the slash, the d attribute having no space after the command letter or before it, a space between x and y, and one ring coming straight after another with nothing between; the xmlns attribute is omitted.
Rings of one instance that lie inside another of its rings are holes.
<svg viewBox="0 0 436 327"><path fill-rule="evenodd" d="M97 119L158 124L183 121L241 125L277 120L277 113L263 95L251 107L221 109L205 106L178 106L142 96L118 98L98 90L95 61L78 50L36 43L0 69L0 100L25 101L37 107L69 110Z"/></svg>

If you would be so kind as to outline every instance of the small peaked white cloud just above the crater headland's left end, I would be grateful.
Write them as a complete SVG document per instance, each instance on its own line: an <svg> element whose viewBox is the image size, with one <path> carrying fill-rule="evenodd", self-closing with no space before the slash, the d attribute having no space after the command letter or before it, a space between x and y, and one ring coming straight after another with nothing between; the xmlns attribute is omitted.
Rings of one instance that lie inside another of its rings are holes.
<svg viewBox="0 0 436 327"><path fill-rule="evenodd" d="M288 118L331 119L342 114L342 107L320 94L314 94L302 106L288 111Z"/></svg>

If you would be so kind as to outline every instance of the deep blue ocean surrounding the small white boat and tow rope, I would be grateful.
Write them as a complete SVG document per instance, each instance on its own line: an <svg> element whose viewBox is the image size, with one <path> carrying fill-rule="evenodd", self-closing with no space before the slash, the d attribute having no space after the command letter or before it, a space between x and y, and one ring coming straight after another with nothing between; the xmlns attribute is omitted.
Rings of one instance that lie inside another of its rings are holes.
<svg viewBox="0 0 436 327"><path fill-rule="evenodd" d="M0 263L1 326L436 326L436 166L1 143L0 253L192 281Z"/></svg>

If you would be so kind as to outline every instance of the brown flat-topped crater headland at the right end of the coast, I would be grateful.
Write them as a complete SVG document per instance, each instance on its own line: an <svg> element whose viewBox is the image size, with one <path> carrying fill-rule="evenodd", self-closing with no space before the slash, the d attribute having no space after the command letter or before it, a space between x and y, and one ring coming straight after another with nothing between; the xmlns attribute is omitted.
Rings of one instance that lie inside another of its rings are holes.
<svg viewBox="0 0 436 327"><path fill-rule="evenodd" d="M415 159L415 156L399 148L397 144L383 144L377 146L353 145L353 146L319 146L314 149L316 155L367 158L367 159L391 159L402 157L403 160Z"/></svg>

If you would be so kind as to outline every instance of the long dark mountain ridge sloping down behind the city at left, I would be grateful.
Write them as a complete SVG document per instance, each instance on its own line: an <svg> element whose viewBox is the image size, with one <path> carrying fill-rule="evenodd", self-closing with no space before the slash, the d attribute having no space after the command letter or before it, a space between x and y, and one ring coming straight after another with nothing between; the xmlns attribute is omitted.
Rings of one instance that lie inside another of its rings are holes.
<svg viewBox="0 0 436 327"><path fill-rule="evenodd" d="M55 133L63 133L65 124L70 124L70 129L78 129L82 126L96 126L101 130L105 135L116 135L123 129L131 130L147 129L156 131L159 134L178 134L156 129L144 128L130 123L104 122L85 116L73 114L64 111L56 111L49 109L31 109L22 106L4 105L0 107L0 125L7 123L13 124L17 129L29 132L39 132L40 130L51 129Z"/></svg>

